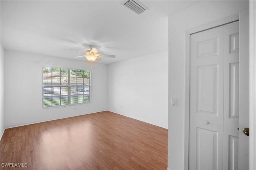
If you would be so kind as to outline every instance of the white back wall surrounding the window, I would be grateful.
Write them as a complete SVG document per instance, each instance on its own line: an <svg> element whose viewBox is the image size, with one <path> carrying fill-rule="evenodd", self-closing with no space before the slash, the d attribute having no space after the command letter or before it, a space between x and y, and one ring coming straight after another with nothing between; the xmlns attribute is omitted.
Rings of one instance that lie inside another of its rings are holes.
<svg viewBox="0 0 256 170"><path fill-rule="evenodd" d="M14 127L107 110L107 66L84 67L83 61L5 51L5 126ZM54 63L38 64L37 62ZM91 103L42 109L42 66L92 70Z"/></svg>

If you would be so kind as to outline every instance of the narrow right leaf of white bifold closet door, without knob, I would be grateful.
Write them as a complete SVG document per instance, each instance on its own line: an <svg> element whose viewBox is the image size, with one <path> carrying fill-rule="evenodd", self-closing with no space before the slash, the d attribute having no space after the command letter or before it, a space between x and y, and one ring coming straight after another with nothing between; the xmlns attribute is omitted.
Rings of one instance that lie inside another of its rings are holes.
<svg viewBox="0 0 256 170"><path fill-rule="evenodd" d="M224 25L223 85L223 169L238 170L239 22Z"/></svg>

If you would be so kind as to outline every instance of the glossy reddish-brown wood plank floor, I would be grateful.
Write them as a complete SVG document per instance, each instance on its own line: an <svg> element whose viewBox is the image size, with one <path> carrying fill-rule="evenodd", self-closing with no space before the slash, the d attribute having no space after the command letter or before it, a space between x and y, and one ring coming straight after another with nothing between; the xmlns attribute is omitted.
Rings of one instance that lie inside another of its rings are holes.
<svg viewBox="0 0 256 170"><path fill-rule="evenodd" d="M167 131L109 111L14 127L1 139L0 168L166 170Z"/></svg>

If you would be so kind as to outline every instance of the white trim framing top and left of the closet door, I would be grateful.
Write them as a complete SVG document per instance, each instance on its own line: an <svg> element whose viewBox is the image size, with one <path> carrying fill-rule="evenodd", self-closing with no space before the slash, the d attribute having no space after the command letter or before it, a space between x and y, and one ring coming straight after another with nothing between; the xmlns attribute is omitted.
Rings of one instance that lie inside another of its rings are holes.
<svg viewBox="0 0 256 170"><path fill-rule="evenodd" d="M184 115L184 170L188 170L188 146L189 146L189 104L190 104L190 34L204 31L216 26L239 20L239 14L235 14L217 21L206 23L185 32L185 115Z"/></svg>

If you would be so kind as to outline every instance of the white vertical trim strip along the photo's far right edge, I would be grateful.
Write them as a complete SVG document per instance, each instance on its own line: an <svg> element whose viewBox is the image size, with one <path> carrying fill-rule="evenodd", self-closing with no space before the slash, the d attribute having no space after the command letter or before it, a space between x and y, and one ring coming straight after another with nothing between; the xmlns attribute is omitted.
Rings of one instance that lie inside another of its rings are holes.
<svg viewBox="0 0 256 170"><path fill-rule="evenodd" d="M249 1L249 169L256 169L256 1Z"/></svg>

